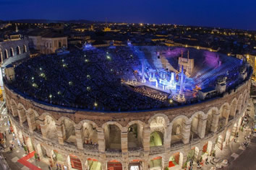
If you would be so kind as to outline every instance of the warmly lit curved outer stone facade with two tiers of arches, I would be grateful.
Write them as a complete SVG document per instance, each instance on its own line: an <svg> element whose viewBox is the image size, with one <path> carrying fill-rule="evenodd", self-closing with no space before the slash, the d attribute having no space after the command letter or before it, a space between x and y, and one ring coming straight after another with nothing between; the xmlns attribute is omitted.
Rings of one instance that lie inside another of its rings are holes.
<svg viewBox="0 0 256 170"><path fill-rule="evenodd" d="M14 133L40 160L67 169L164 169L174 158L183 167L202 153L222 149L241 125L250 81L223 97L170 109L93 112L36 102L5 86ZM153 161L152 161L153 160ZM157 160L157 161L155 161ZM160 164L158 164L160 162Z"/></svg>

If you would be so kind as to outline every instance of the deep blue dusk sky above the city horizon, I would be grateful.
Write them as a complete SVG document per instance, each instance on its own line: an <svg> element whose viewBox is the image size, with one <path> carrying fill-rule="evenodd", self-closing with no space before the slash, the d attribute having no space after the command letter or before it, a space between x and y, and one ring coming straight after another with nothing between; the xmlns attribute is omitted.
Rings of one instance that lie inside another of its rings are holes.
<svg viewBox="0 0 256 170"><path fill-rule="evenodd" d="M0 19L88 19L256 30L255 0L0 0Z"/></svg>

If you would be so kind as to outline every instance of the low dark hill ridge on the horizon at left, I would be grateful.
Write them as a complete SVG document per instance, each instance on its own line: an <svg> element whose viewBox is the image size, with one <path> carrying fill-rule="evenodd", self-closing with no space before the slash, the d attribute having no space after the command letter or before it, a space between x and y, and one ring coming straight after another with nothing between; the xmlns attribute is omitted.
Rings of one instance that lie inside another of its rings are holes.
<svg viewBox="0 0 256 170"><path fill-rule="evenodd" d="M51 19L15 19L10 22L19 22L19 23L80 23L80 24L101 24L104 22L101 21L90 21L86 19L77 19L77 20L51 20Z"/></svg>

